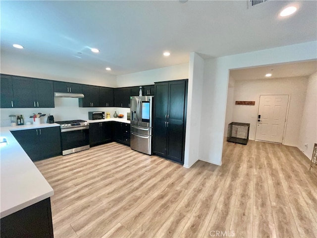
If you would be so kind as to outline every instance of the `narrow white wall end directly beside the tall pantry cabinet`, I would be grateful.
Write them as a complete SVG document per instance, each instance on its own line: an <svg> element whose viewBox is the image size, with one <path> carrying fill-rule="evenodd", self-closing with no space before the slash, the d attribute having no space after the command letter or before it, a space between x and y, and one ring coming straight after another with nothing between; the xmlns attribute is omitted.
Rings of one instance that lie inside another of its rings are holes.
<svg viewBox="0 0 317 238"><path fill-rule="evenodd" d="M187 121L184 167L191 167L199 159L200 121L202 117L202 90L204 82L204 60L197 53L190 54Z"/></svg>

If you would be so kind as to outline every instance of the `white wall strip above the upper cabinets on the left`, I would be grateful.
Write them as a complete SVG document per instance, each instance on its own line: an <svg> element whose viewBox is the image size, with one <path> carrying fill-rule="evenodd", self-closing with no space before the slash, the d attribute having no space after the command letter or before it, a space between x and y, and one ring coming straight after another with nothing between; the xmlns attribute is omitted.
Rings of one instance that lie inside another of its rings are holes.
<svg viewBox="0 0 317 238"><path fill-rule="evenodd" d="M116 87L116 76L36 56L1 52L1 73L57 81ZM78 59L80 60L80 59ZM106 70L105 70L106 71Z"/></svg>

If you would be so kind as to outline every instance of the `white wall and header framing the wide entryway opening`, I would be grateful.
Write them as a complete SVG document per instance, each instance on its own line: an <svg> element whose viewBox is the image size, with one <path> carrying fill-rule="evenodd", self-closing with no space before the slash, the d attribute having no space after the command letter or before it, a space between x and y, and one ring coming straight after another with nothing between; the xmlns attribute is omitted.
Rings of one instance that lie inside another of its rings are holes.
<svg viewBox="0 0 317 238"><path fill-rule="evenodd" d="M317 59L317 42L205 60L200 159L221 165L229 70Z"/></svg>

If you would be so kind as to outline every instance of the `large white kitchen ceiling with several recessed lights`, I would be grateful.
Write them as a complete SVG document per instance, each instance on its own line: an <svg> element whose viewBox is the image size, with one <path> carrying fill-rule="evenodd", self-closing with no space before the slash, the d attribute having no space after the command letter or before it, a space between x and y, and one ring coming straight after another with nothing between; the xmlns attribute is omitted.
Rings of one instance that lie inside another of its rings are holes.
<svg viewBox="0 0 317 238"><path fill-rule="evenodd" d="M299 10L280 19L291 3ZM186 63L190 52L206 59L317 40L315 0L268 0L251 8L247 0L1 0L0 8L2 53L113 75Z"/></svg>

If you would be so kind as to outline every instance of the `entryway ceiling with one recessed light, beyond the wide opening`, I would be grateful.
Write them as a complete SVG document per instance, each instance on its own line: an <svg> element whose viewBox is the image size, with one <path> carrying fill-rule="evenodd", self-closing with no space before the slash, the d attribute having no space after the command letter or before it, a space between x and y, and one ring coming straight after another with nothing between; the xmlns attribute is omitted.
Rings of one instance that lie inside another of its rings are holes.
<svg viewBox="0 0 317 238"><path fill-rule="evenodd" d="M314 72L317 72L317 60L235 69L230 70L230 77L234 80L305 77ZM267 73L271 73L272 76L265 77Z"/></svg>

